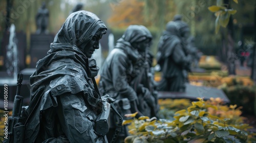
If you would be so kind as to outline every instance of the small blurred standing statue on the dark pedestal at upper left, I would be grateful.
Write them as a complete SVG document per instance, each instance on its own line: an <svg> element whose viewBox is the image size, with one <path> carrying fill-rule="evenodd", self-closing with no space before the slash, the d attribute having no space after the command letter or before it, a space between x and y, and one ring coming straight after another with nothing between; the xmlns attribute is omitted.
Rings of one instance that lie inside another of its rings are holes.
<svg viewBox="0 0 256 143"><path fill-rule="evenodd" d="M38 9L36 17L36 34L47 34L47 26L49 21L49 11L46 8L46 3L43 2L41 8Z"/></svg>

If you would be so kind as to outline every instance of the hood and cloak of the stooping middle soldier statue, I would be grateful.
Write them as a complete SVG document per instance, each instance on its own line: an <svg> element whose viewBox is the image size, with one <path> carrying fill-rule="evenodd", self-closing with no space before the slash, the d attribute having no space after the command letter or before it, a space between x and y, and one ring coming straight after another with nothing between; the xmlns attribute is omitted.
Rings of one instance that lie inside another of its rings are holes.
<svg viewBox="0 0 256 143"><path fill-rule="evenodd" d="M142 57L132 44L151 37L142 29L144 29L143 26L131 25L117 40L115 48L102 66L100 93L109 94L112 98L119 96L119 98L128 98L130 101L136 99L137 94L129 85L129 81L133 80L131 75L133 64Z"/></svg>

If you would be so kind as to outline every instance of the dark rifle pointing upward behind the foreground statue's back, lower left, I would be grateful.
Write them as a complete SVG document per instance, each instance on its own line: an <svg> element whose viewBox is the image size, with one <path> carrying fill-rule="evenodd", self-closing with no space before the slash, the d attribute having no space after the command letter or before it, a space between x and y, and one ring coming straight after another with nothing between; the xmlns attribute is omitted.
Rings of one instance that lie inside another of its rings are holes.
<svg viewBox="0 0 256 143"><path fill-rule="evenodd" d="M23 97L19 95L22 81L23 74L18 73L17 90L13 103L12 116L8 117L8 138L4 140L6 143L24 142L25 125L22 124L23 118L20 115L22 111Z"/></svg>

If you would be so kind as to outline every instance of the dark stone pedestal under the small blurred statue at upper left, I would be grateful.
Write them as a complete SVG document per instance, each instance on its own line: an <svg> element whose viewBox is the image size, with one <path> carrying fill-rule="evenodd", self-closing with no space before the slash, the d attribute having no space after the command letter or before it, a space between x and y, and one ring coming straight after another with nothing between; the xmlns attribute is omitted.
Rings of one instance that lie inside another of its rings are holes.
<svg viewBox="0 0 256 143"><path fill-rule="evenodd" d="M45 56L50 50L50 44L53 42L52 34L31 34L30 37L30 68L36 67L36 62Z"/></svg>

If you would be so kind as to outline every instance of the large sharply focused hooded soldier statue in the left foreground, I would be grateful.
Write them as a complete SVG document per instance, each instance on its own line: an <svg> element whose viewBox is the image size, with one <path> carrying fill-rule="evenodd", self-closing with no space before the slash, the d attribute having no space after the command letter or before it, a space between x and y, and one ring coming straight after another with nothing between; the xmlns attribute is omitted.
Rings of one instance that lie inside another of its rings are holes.
<svg viewBox="0 0 256 143"><path fill-rule="evenodd" d="M106 133L95 131L103 97L91 82L99 68L89 60L105 33L104 23L88 11L63 23L30 77L25 142L108 142Z"/></svg>

